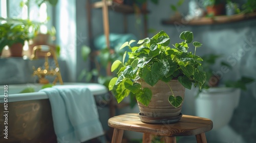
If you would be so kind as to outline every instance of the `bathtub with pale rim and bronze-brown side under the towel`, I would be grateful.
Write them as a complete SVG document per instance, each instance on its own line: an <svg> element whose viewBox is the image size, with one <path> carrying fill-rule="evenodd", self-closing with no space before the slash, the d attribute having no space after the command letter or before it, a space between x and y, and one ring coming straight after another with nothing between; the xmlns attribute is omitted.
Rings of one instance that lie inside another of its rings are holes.
<svg viewBox="0 0 256 143"><path fill-rule="evenodd" d="M96 83L65 84L84 85L95 96L108 92L105 86ZM28 87L33 88L35 92L19 93ZM37 92L41 87L40 84L8 85L7 113L4 112L4 85L0 85L0 142L57 142L48 96L45 92ZM5 134L7 132L8 134Z"/></svg>

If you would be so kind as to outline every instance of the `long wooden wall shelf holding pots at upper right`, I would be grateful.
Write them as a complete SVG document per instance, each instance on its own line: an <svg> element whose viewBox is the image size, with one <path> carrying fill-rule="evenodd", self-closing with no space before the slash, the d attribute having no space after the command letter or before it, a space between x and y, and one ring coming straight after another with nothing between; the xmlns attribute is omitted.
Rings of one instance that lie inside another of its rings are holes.
<svg viewBox="0 0 256 143"><path fill-rule="evenodd" d="M221 23L230 23L243 21L248 19L256 19L256 12L248 13L248 14L235 14L231 16L221 15L214 17L201 17L199 19L193 19L190 21L186 21L185 19L168 19L162 20L163 25L215 25Z"/></svg>

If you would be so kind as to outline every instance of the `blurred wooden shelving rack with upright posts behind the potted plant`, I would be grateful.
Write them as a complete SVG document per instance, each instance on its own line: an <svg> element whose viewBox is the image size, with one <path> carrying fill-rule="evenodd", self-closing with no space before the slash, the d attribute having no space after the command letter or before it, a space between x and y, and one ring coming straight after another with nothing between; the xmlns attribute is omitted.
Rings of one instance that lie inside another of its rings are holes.
<svg viewBox="0 0 256 143"><path fill-rule="evenodd" d="M124 33L127 32L127 20L126 15L127 14L135 14L140 13L143 14L143 24L144 24L144 36L147 36L147 18L146 14L149 13L147 10L140 10L135 9L133 6L118 4L113 1L108 0L101 0L95 3L91 3L90 0L87 0L86 4L86 10L87 10L87 20L88 20L88 32L89 32L89 42L90 47L93 46L93 34L92 34L92 22L91 22L91 15L92 15L92 9L102 9L102 21L103 21L103 29L104 29L104 35L106 38L106 45L110 49L110 40L109 40L109 34L110 34L110 27L109 27L109 10L112 10L114 12L122 13L123 14L123 25L124 25ZM114 52L112 49L110 49L110 53ZM93 51L92 56L95 57L99 54L99 51ZM111 73L111 64L109 63L106 69L106 75L110 76ZM115 99L114 99L115 100ZM109 103L110 106L110 115L115 115L115 108L122 108L129 106L129 103L122 103L122 104L116 104L116 102L113 101L113 99Z"/></svg>

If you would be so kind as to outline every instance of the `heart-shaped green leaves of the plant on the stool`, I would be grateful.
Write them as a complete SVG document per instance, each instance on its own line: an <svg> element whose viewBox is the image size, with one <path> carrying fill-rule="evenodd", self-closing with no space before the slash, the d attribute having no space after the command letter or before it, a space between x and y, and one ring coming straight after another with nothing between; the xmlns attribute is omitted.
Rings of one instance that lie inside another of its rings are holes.
<svg viewBox="0 0 256 143"><path fill-rule="evenodd" d="M111 90L120 103L129 93L136 97L137 101L147 106L152 98L152 91L143 88L137 80L144 80L147 84L154 86L158 81L169 82L178 79L185 87L190 89L192 83L199 86L206 80L206 74L201 66L202 58L191 52L187 52L188 44L193 41L193 33L185 31L180 34L184 40L181 43L169 47L170 38L160 31L152 38L145 38L138 41L138 45L131 46L131 42L125 42L120 49L128 46L129 59L127 61L116 60L112 65L112 71L117 71L117 78L109 83ZM134 42L134 40L133 40ZM193 43L200 47L200 42ZM195 50L196 52L196 50ZM125 56L125 55L124 55ZM170 87L172 91L172 88ZM179 107L183 99L170 95L169 102L174 107Z"/></svg>

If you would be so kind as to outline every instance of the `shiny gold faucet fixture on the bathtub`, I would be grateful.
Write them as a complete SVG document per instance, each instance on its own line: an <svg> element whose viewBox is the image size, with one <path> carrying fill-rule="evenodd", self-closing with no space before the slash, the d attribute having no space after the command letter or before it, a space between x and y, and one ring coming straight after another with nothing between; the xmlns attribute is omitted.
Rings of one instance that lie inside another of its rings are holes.
<svg viewBox="0 0 256 143"><path fill-rule="evenodd" d="M56 76L52 84L56 84L57 81L59 81L60 84L63 84L60 70L59 70L59 64L57 61L56 54L51 46L48 45L37 45L33 47L33 52L31 55L31 60L37 59L38 53L45 53L45 69L42 67L35 68L33 66L33 76L37 76L39 78L39 83L41 84L48 84L49 80L46 79L46 76ZM53 60L55 62L55 67L49 67L48 58L52 56Z"/></svg>

